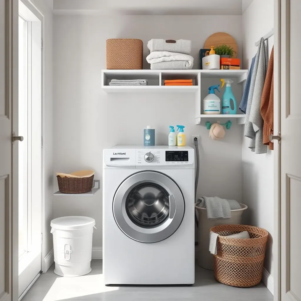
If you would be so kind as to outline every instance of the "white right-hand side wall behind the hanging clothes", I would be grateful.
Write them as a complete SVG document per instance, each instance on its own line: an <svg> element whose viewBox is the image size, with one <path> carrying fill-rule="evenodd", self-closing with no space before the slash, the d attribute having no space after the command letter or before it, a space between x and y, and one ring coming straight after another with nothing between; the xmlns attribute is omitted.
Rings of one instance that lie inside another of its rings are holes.
<svg viewBox="0 0 301 301"><path fill-rule="evenodd" d="M243 30L243 67L249 69L257 47L255 42L274 27L274 1L254 0L242 16ZM269 53L274 39L268 40ZM242 163L244 202L249 206L246 222L265 228L269 232L265 268L273 275L273 232L274 232L274 156L273 151L267 154L254 154L248 148L249 138L243 138Z"/></svg>

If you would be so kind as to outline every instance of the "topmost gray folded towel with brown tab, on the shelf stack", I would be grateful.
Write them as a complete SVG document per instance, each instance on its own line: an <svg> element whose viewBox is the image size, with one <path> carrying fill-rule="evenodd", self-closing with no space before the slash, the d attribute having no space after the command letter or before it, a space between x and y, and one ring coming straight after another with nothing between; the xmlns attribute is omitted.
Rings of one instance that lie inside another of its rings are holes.
<svg viewBox="0 0 301 301"><path fill-rule="evenodd" d="M168 41L168 40L167 40ZM190 40L176 40L175 43L166 43L164 39L151 39L147 42L147 48L150 52L153 51L170 51L184 54L190 54Z"/></svg>

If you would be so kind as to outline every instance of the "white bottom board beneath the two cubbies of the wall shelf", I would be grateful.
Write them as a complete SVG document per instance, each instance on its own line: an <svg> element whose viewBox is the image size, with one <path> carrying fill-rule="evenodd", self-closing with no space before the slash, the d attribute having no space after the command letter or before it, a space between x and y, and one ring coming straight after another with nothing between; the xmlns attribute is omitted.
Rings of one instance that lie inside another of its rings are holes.
<svg viewBox="0 0 301 301"><path fill-rule="evenodd" d="M198 86L103 86L107 93L195 93Z"/></svg>

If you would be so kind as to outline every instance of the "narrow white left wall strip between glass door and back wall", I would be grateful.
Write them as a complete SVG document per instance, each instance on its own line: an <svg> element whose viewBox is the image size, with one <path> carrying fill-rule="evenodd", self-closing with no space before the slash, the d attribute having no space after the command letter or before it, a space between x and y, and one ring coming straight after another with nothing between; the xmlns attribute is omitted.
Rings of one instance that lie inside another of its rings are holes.
<svg viewBox="0 0 301 301"><path fill-rule="evenodd" d="M32 0L36 8L44 16L44 36L43 36L43 62L44 62L44 116L43 116L43 148L44 148L44 206L42 207L42 266L43 258L53 248L52 234L50 234L50 221L53 216L53 146L52 146L52 103L53 103L53 61L52 61L52 28L53 16L49 0ZM43 271L45 272L45 271Z"/></svg>

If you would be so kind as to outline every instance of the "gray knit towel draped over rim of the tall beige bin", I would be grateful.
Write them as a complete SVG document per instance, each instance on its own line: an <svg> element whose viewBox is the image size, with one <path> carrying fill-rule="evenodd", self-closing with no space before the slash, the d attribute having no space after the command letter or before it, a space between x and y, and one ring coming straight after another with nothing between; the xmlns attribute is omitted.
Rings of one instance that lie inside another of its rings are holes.
<svg viewBox="0 0 301 301"><path fill-rule="evenodd" d="M240 204L236 200L220 197L201 197L197 200L197 206L207 209L208 219L230 219L231 210L240 209Z"/></svg>

